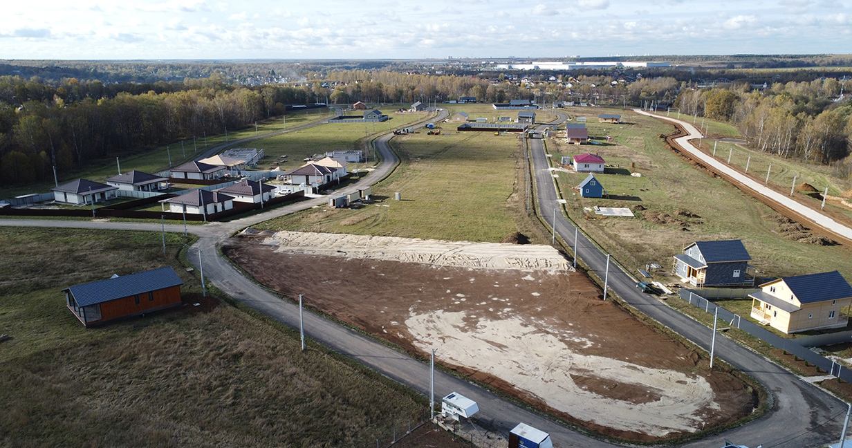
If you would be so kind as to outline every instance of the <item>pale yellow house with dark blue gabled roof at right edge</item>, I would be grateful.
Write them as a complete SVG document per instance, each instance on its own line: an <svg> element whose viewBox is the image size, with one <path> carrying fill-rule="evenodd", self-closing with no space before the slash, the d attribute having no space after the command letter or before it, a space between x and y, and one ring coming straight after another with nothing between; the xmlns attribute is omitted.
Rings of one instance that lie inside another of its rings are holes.
<svg viewBox="0 0 852 448"><path fill-rule="evenodd" d="M837 271L785 277L749 294L751 317L785 333L841 328L843 308L852 303L852 286Z"/></svg>

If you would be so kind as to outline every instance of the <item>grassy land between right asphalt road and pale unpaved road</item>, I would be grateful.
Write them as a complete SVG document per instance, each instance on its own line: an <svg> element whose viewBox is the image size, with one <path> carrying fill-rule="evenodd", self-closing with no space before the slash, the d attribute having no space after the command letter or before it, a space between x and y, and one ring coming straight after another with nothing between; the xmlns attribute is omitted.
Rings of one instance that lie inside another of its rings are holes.
<svg viewBox="0 0 852 448"><path fill-rule="evenodd" d="M573 146L565 144L564 139L548 140L547 145L554 163L562 155L597 152L607 164L620 165L619 169L608 169L610 174L598 176L613 198L580 198L579 193L574 194L571 188L586 174L560 172L559 186L567 199L568 215L628 270L636 273L636 269L656 262L668 272L671 256L689 243L739 238L751 253L751 264L764 275L839 270L852 279L849 248L815 246L781 238L778 225L767 219L776 215L773 210L727 181L713 178L665 150L658 135L671 134L673 126L633 113L622 119L631 124L588 123L590 135L611 136L612 145L598 141L602 144ZM641 173L642 177L630 176L630 171ZM584 211L595 205L633 208L640 204L648 210L636 211L636 218L600 218L593 211ZM699 217L676 216L678 210ZM659 214L674 216L687 225L655 224L644 219Z"/></svg>

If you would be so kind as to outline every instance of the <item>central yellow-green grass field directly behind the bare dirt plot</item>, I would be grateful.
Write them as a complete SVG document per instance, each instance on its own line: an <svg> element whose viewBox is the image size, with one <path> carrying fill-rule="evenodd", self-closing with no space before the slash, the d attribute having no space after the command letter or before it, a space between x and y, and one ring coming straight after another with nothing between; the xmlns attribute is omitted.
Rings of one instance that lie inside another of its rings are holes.
<svg viewBox="0 0 852 448"><path fill-rule="evenodd" d="M464 111L471 118L491 118L496 112L490 105L442 106L451 117ZM377 204L357 210L306 210L259 227L491 242L518 231L535 237L523 212L524 178L519 169L523 161L517 135L458 132L458 123L439 127L442 135L427 135L423 129L394 137L391 146L401 163L373 187ZM520 192L515 192L515 185ZM401 193L401 201L393 200L394 192Z"/></svg>

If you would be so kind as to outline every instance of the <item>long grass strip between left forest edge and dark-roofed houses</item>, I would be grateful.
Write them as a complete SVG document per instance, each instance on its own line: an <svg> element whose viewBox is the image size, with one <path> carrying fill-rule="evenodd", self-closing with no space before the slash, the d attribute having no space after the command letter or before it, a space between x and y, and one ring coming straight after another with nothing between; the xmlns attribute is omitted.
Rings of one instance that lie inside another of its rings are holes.
<svg viewBox="0 0 852 448"><path fill-rule="evenodd" d="M264 134L284 129L291 129L297 126L301 126L302 124L320 120L322 118L329 118L332 115L333 112L327 112L326 110L320 109L316 110L316 112L310 113L296 112L288 114L286 118L286 123L284 123L284 120L282 120L282 118L280 117L269 118L257 122L257 133ZM219 135L207 135L206 146L203 135L196 135L194 144L193 137L189 136L187 140L183 141L182 149L181 141L170 144L168 146L159 146L155 148L140 147L135 149L129 149L127 152L124 153L124 155L121 156L121 158L119 158L119 162L121 164L121 170L123 172L130 171L131 169L138 169L146 173L154 174L158 173L159 171L163 171L164 169L169 169L170 159L172 166L177 166L181 163L191 160L198 152L204 152L204 150L209 149L210 147L221 145L222 143L226 143L227 141L235 141L254 135L254 126L249 126L244 129L237 129L233 131L229 130L227 133L227 137L224 133ZM252 142L249 146L258 148L262 147L256 146L254 142ZM62 185L65 182L73 181L74 179L78 179L81 177L83 179L89 179L90 181L102 182L107 177L116 174L118 174L118 166L116 165L114 156L107 158L96 158L87 161L86 166L84 166L83 169L75 169L68 173L60 172L59 182L60 185ZM14 196L28 194L32 192L49 192L50 188L53 187L55 187L55 184L52 177L48 181L40 182L37 184L31 184L27 186L2 187L0 188L0 198L13 198Z"/></svg>

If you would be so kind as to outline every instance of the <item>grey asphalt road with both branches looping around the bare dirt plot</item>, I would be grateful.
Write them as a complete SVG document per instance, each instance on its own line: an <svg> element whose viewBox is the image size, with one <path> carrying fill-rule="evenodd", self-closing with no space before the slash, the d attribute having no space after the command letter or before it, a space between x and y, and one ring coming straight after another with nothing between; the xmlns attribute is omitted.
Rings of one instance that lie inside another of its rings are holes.
<svg viewBox="0 0 852 448"><path fill-rule="evenodd" d="M446 117L443 112L437 118L430 121L439 121ZM564 119L564 116L562 117ZM291 129L288 129L291 130ZM383 135L376 141L377 150L381 152L384 163L370 175L365 176L357 184L344 188L341 192L354 192L359 187L366 187L375 181L383 179L388 175L398 159L390 151L388 141L391 135ZM553 178L547 170L547 160L544 157L544 149L540 140L531 140L533 153L533 166L536 184L538 187L538 202L545 216L552 216L556 202L556 188ZM216 222L204 226L191 226L189 231L199 236L199 241L189 249L187 257L196 267L199 267L199 253L203 261L204 277L208 282L215 284L217 288L226 294L233 296L240 302L277 319L292 328L298 328L298 307L296 304L279 299L268 290L246 279L242 273L233 267L227 260L219 256L217 247L234 232L249 227L261 221L305 210L313 205L325 204L327 198L314 198L270 210L263 214L253 215L241 220L230 222ZM159 232L161 227L158 223L136 223L136 222L93 222L93 221L36 221L36 220L0 220L2 226L14 227L77 227L77 228L102 228L119 230L143 230ZM556 214L556 230L561 238L573 241L574 227L564 218L561 213ZM182 233L183 226L166 226L169 232ZM590 243L586 238L579 239L579 256L597 273L603 277L606 256ZM677 313L664 304L657 301L653 296L639 293L634 287L635 280L627 273L611 266L609 285L612 290L619 293L626 302L647 313L653 319L657 319L672 330L684 335L689 340L696 342L701 347L707 347L711 331L704 325L688 319L681 313ZM309 303L309 296L307 297ZM342 353L352 359L357 359L364 365L379 371L398 382L402 382L417 391L429 394L429 365L417 359L412 359L403 353L385 347L358 332L337 325L331 320L322 318L314 313L304 313L305 333L309 339L320 342L332 350ZM309 349L309 347L308 347ZM746 371L773 391L773 411L757 422L752 422L743 428L728 431L725 434L712 436L710 438L689 444L696 448L717 448L721 446L722 437L727 437L738 444L750 445L752 447L763 444L764 448L770 447L801 447L820 445L826 441L837 439L840 431L840 422L845 412L845 406L838 400L832 398L820 389L802 382L779 366L763 359L761 356L751 353L743 347L729 341L727 338L717 339L717 355ZM438 353L440 358L440 353ZM474 399L480 405L477 417L494 428L503 428L508 432L509 428L517 422L526 422L535 428L550 433L554 444L559 447L590 447L603 448L618 446L611 443L593 439L584 434L579 434L560 424L527 411L520 406L487 392L472 383L463 381L455 376L443 372L435 372L435 396L440 399L447 393L458 392L464 396ZM437 406L440 409L440 402Z"/></svg>

